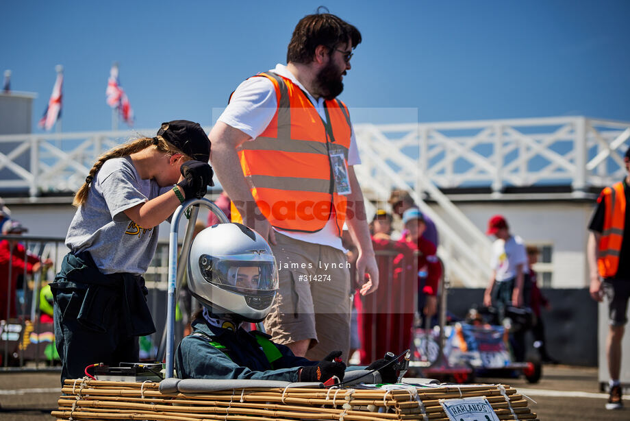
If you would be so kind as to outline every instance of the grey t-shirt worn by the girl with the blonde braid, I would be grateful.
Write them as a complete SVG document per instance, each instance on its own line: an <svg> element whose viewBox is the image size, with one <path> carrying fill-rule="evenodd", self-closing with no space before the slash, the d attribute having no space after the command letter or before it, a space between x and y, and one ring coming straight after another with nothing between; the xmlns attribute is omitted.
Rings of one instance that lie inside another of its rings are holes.
<svg viewBox="0 0 630 421"><path fill-rule="evenodd" d="M141 228L123 210L169 189L141 180L129 157L105 161L72 219L66 245L72 252L90 252L103 274L144 274L157 247L158 227Z"/></svg>

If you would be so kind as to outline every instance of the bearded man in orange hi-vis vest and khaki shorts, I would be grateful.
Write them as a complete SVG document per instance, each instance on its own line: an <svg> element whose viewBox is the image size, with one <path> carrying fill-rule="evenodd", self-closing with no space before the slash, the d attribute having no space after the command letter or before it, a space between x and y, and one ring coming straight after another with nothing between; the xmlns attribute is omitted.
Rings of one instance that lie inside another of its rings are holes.
<svg viewBox="0 0 630 421"><path fill-rule="evenodd" d="M349 357L353 282L344 222L359 250L355 285L366 294L379 282L353 170L360 164L355 135L348 108L336 99L360 42L358 29L338 16L305 16L286 66L242 82L209 135L232 221L260 232L278 263L267 333L315 361L332 350Z"/></svg>

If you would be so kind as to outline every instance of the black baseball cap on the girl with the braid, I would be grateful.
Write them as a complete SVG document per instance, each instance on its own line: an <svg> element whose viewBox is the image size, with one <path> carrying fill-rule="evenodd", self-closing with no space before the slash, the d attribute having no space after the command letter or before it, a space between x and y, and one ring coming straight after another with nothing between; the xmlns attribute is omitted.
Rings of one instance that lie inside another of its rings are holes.
<svg viewBox="0 0 630 421"><path fill-rule="evenodd" d="M210 139L199 123L188 120L173 120L162 123L157 136L177 147L194 160L207 163L210 160Z"/></svg>

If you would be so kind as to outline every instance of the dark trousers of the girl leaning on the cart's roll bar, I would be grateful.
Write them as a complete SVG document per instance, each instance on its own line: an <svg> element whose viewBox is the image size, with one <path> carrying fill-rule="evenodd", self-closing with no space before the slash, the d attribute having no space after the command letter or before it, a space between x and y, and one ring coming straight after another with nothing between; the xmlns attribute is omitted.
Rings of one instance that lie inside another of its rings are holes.
<svg viewBox="0 0 630 421"><path fill-rule="evenodd" d="M55 341L62 361L62 385L66 378L84 377L88 365L117 366L121 362L137 362L139 358L138 337L127 335L116 301L110 302L103 314L107 319L103 324L108 326L105 331L86 327L77 320L85 293L82 289L54 292Z"/></svg>

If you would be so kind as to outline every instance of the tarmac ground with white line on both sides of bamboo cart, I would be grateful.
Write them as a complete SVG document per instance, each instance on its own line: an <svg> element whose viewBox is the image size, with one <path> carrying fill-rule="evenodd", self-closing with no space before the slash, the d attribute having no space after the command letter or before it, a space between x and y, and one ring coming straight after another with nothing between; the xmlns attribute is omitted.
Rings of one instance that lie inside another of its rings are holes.
<svg viewBox="0 0 630 421"><path fill-rule="evenodd" d="M540 383L521 378L479 378L479 383L503 383L536 401L531 410L542 421L630 421L630 396L625 409L607 411L607 394L599 392L596 368L544 366ZM59 391L59 374L0 372L1 421L51 421Z"/></svg>

